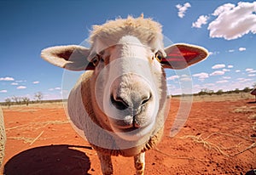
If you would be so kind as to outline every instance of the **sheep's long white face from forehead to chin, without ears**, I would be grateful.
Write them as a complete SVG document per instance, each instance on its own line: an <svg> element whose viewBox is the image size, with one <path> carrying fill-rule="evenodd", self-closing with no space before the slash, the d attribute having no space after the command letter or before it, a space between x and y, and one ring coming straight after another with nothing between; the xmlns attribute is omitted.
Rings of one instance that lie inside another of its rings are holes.
<svg viewBox="0 0 256 175"><path fill-rule="evenodd" d="M93 55L93 107L110 129L126 140L142 138L154 127L160 99L166 99L161 53L137 37L121 37L114 46Z"/></svg>

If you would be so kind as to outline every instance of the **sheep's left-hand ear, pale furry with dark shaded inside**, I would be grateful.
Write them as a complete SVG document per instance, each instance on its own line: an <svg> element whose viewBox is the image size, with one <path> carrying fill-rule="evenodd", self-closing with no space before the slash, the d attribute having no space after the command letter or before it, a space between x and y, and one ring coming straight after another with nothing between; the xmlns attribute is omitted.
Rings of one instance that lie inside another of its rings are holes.
<svg viewBox="0 0 256 175"><path fill-rule="evenodd" d="M89 48L68 45L45 48L41 52L41 57L52 65L70 71L94 70L95 66L87 60L89 54Z"/></svg>

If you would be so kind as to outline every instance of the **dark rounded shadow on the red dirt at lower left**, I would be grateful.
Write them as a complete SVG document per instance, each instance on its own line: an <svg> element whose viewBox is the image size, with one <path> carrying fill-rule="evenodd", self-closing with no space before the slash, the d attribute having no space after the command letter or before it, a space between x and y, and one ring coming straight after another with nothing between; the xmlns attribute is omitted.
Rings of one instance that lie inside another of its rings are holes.
<svg viewBox="0 0 256 175"><path fill-rule="evenodd" d="M72 148L90 147L76 145L49 145L20 152L5 165L6 175L63 175L89 174L90 159L84 152Z"/></svg>

